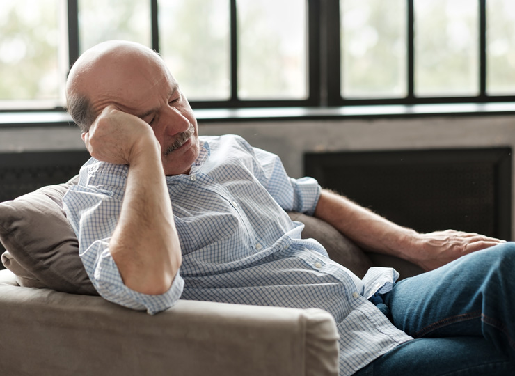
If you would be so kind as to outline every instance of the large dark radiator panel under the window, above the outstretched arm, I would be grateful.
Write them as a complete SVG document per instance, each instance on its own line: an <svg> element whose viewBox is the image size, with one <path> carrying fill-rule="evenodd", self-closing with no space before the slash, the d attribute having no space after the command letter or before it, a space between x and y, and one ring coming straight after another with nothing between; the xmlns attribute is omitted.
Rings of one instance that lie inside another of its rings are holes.
<svg viewBox="0 0 515 376"><path fill-rule="evenodd" d="M453 228L511 239L511 148L308 153L304 168L420 232Z"/></svg>

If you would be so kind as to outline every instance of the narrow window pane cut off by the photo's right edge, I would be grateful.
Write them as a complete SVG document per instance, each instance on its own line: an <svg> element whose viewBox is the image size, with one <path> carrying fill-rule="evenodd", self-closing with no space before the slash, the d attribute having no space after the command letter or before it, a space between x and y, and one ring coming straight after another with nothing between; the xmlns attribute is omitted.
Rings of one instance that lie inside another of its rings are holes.
<svg viewBox="0 0 515 376"><path fill-rule="evenodd" d="M486 1L486 91L515 93L515 1Z"/></svg>

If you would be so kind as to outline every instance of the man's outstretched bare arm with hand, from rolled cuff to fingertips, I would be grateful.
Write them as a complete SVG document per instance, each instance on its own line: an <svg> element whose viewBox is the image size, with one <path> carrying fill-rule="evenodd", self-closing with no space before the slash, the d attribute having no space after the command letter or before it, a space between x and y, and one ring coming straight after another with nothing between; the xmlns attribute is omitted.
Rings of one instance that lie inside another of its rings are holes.
<svg viewBox="0 0 515 376"><path fill-rule="evenodd" d="M420 234L393 224L325 189L317 203L315 217L333 225L365 249L404 258L425 270L435 269L466 253L502 242L491 237L454 230Z"/></svg>

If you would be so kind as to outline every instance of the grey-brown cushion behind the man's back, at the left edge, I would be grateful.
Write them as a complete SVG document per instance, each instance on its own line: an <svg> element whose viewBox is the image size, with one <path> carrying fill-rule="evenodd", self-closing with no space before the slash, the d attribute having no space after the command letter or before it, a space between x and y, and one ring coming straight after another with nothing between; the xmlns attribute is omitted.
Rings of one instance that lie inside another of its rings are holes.
<svg viewBox="0 0 515 376"><path fill-rule="evenodd" d="M7 249L2 263L17 275L19 285L98 295L63 210L63 196L72 184L42 187L0 203L0 241Z"/></svg>

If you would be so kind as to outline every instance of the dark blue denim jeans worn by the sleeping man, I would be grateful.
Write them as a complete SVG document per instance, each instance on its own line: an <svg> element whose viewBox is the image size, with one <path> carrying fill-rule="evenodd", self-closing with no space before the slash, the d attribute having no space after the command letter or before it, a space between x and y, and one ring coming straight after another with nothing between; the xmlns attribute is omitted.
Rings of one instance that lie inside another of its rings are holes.
<svg viewBox="0 0 515 376"><path fill-rule="evenodd" d="M514 291L512 242L395 283L381 311L415 340L355 375L515 375Z"/></svg>

